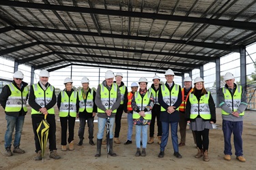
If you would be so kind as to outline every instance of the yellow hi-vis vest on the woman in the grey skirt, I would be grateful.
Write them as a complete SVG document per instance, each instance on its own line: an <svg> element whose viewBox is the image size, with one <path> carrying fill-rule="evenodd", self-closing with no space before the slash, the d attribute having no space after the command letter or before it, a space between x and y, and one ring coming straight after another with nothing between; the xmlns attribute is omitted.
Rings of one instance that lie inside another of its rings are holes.
<svg viewBox="0 0 256 170"><path fill-rule="evenodd" d="M210 98L210 92L201 96L200 101L197 100L197 97L193 93L190 93L189 95L189 101L191 103L190 119L195 119L197 118L198 115L200 115L201 118L203 118L204 120L211 119L209 98Z"/></svg>

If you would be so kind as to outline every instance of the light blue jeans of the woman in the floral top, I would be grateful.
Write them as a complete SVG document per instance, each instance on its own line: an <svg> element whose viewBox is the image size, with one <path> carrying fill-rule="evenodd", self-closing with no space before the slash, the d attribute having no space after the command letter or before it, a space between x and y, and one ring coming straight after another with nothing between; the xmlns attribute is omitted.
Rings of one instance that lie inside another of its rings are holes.
<svg viewBox="0 0 256 170"><path fill-rule="evenodd" d="M147 126L148 125L135 125L136 126L136 147L141 148L141 131L142 131L142 148L147 148Z"/></svg>

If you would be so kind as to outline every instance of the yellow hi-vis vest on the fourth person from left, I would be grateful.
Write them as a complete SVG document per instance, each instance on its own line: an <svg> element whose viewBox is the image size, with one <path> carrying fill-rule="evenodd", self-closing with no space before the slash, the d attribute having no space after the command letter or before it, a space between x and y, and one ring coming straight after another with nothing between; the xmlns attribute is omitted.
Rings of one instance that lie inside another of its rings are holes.
<svg viewBox="0 0 256 170"><path fill-rule="evenodd" d="M83 99L82 90L79 90L79 112L84 112L86 108L86 112L92 113L94 110L94 90L91 89L91 93L87 92L86 99Z"/></svg>

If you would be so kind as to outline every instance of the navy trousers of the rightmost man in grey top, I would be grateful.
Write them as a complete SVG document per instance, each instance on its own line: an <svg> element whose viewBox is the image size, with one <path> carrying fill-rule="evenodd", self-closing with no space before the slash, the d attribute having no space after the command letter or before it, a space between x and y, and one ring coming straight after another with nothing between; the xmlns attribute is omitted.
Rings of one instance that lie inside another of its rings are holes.
<svg viewBox="0 0 256 170"><path fill-rule="evenodd" d="M242 156L242 129L243 122L231 122L223 120L223 135L224 135L224 154L232 155L231 152L231 134L233 133L233 143L235 146L236 156Z"/></svg>

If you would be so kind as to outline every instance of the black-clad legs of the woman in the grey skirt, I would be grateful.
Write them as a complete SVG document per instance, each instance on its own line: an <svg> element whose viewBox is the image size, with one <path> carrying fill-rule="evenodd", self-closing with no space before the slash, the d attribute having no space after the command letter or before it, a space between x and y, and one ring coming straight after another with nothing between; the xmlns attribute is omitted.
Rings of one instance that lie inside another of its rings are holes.
<svg viewBox="0 0 256 170"><path fill-rule="evenodd" d="M209 129L203 129L203 131L194 131L195 139L197 141L197 147L203 152L208 150L209 147Z"/></svg>

